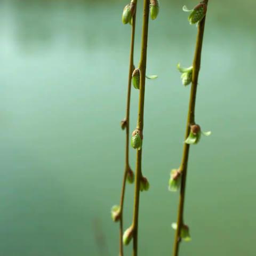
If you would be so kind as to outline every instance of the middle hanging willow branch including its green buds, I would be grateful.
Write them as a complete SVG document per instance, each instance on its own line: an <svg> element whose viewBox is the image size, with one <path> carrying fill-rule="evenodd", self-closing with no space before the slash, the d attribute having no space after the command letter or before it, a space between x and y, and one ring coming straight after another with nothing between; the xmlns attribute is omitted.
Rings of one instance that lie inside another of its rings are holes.
<svg viewBox="0 0 256 256"><path fill-rule="evenodd" d="M127 245L133 238L133 256L138 255L138 219L140 191L147 191L149 189L149 182L146 177L143 177L141 171L149 11L151 19L156 19L159 11L159 5L157 0L144 0L143 2L141 58L139 68L134 69L132 74L133 86L135 89L140 90L137 128L132 133L132 147L137 149L137 161L135 171L133 221L132 225L124 232L123 243ZM156 77L157 76L149 76L148 78L154 79Z"/></svg>

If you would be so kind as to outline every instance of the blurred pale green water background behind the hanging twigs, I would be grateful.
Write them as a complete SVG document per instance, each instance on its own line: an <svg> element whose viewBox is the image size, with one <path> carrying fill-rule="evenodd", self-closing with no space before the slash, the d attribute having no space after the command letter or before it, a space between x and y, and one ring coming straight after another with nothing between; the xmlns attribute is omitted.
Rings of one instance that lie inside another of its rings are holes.
<svg viewBox="0 0 256 256"><path fill-rule="evenodd" d="M193 59L197 1L161 1L149 24L139 255L171 255L178 167L189 88L178 62ZM118 255L119 202L130 26L127 1L0 2L0 255ZM196 120L211 130L191 148L185 216L192 241L180 256L255 255L254 0L209 1ZM135 63L139 61L142 1ZM138 91L132 90L131 129ZM135 151L130 150L131 166ZM127 186L125 227L133 186ZM125 248L131 255L131 246Z"/></svg>

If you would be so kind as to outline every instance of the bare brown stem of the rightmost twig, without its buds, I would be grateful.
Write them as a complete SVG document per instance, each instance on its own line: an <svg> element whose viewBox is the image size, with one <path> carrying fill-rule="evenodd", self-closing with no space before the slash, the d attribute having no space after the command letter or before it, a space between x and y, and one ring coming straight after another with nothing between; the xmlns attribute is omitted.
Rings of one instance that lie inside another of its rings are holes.
<svg viewBox="0 0 256 256"><path fill-rule="evenodd" d="M208 1L206 0L204 2L207 4ZM195 123L196 90L197 90L199 69L201 65L201 52L202 52L202 44L203 44L203 36L204 36L204 25L205 25L205 17L198 24L198 33L197 33L197 40L196 40L195 57L193 61L193 76L192 76L192 84L191 84L191 90L190 90L190 100L189 100L185 140L189 135L190 125ZM179 254L179 244L181 241L180 230L182 225L185 224L183 220L183 208L184 208L184 202L185 202L188 155L189 155L189 144L184 143L183 156L182 156L182 161L180 166L180 172L182 174L181 188L180 188L177 230L176 230L175 239L174 239L173 256L178 256Z"/></svg>

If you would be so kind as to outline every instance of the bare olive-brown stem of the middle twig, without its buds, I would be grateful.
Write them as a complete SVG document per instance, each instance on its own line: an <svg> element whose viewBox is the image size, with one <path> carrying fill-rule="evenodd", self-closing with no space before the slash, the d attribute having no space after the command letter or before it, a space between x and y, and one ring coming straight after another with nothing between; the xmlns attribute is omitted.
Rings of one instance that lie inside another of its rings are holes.
<svg viewBox="0 0 256 256"><path fill-rule="evenodd" d="M144 117L144 99L145 99L145 78L147 63L147 43L148 43L148 18L149 18L149 0L144 0L143 4L143 25L141 39L141 58L139 63L140 69L140 95L137 129L143 134L143 117ZM137 150L137 162L135 171L135 193L133 208L133 256L138 254L138 218L139 218L139 199L140 199L140 179L141 179L141 157L142 149Z"/></svg>

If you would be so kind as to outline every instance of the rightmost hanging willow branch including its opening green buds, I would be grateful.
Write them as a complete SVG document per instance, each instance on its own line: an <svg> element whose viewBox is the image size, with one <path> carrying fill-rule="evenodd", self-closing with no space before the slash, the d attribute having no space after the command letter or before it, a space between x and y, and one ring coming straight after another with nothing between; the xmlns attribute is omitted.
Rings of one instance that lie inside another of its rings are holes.
<svg viewBox="0 0 256 256"><path fill-rule="evenodd" d="M201 134L210 135L210 132L201 132L201 127L195 123L195 104L196 104L196 90L198 84L198 74L201 65L201 52L203 44L204 35L204 25L205 25L205 15L207 10L208 0L204 0L199 3L193 10L188 10L186 6L183 7L184 11L190 11L191 14L188 17L190 24L197 23L198 33L196 40L196 50L195 57L193 61L193 66L189 68L181 68L178 65L178 69L181 71L182 83L184 85L191 84L190 90L190 100L188 109L188 119L186 125L186 135L185 143L183 147L183 156L181 165L178 170L171 171L171 178L169 181L169 189L171 191L177 191L180 185L180 199L178 208L178 220L177 223L173 223L172 227L176 229L173 256L178 256L179 254L179 244L181 239L184 241L189 241L189 228L185 225L183 218L183 208L185 201L185 189L186 189L186 176L187 176L187 165L188 165L188 155L190 144L198 143Z"/></svg>

